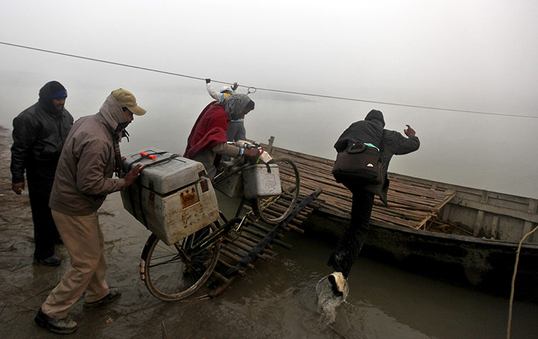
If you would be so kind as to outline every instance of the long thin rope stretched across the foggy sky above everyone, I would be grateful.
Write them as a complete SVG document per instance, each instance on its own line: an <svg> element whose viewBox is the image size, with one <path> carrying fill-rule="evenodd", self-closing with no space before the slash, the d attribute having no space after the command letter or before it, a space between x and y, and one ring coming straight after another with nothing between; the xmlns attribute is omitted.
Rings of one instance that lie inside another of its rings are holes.
<svg viewBox="0 0 538 339"><path fill-rule="evenodd" d="M19 47L19 48L24 48L26 50L35 50L35 51L39 51L39 52L58 54L58 55L62 55L64 57L74 57L74 58L77 58L77 59L84 59L84 60L89 60L89 61L93 61L93 62L102 62L104 64L113 64L113 65L116 65L116 66L130 67L130 68L134 68L134 69L141 69L143 71L153 71L153 72L161 73L161 74L168 74L168 75L173 75L173 76L182 76L182 77L188 78L188 79L195 79L195 80L203 80L203 81L205 81L205 78L202 78L200 76L190 76L190 75L186 75L186 74L174 73L174 72L171 72L171 71L161 71L159 69L151 69L151 68L148 68L148 67L139 67L139 66L135 66L135 65L132 65L132 64L122 64L121 62L110 62L108 60L103 60L103 59L96 59L96 58L91 58L91 57L83 57L81 55L69 54L69 53L63 53L63 52L56 52L56 51L52 51L52 50L44 50L42 48L36 48L36 47L30 47L30 46L24 46L24 45L16 45L16 44L12 44L12 43L9 43L9 42L0 41L0 45L6 45L6 46L11 46L11 47ZM212 80L212 82L219 83L219 84L229 84L229 82L227 82L227 81ZM273 88L261 88L261 87L254 87L254 86L245 86L245 85L239 85L239 86L249 88L248 93L254 93L256 91L256 89L258 89L260 91L268 91L268 92L275 92L275 93L285 93L285 94L292 94L292 95L298 95L298 96L314 96L316 98L348 100L348 101L357 101L357 102L361 102L361 103L376 103L376 104L380 104L380 105L392 105L392 106L410 107L410 108L423 108L423 109L426 109L426 110L444 110L444 111L447 111L447 112L457 112L457 113L496 115L496 116L503 116L503 117L527 117L527 118L532 118L532 119L538 119L538 116L533 116L533 115L493 113L493 112L483 112L483 111L479 111L479 110L457 110L457 109L453 109L453 108L440 108L440 107L424 106L424 105L410 105L410 104L405 104L405 103L390 103L390 102L387 102L387 101L365 100L365 99L358 99L358 98L346 98L346 97L341 97L341 96L326 96L324 94L304 93L304 92L296 92L296 91L283 91L283 90L273 89ZM251 92L250 89L254 89L254 91Z"/></svg>

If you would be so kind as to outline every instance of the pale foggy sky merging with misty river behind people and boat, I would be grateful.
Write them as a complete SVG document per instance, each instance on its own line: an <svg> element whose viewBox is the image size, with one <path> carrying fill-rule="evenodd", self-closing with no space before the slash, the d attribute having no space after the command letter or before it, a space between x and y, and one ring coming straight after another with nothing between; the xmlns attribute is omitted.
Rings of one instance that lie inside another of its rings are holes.
<svg viewBox="0 0 538 339"><path fill-rule="evenodd" d="M538 117L537 1L2 1L0 41L284 91ZM133 151L183 152L205 82L0 45L0 125L58 80L75 118L115 88L148 110ZM222 84L214 84L219 88ZM240 87L244 93L246 88ZM334 159L371 109L419 151L389 171L538 197L538 119L258 91L247 136Z"/></svg>

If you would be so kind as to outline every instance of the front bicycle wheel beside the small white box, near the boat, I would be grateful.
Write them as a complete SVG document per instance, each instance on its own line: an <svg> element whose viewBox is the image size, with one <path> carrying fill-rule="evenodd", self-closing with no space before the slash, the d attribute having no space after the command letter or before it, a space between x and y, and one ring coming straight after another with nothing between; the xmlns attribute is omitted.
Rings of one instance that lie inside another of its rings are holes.
<svg viewBox="0 0 538 339"><path fill-rule="evenodd" d="M299 197L299 170L291 159L278 159L282 194L253 199L254 213L268 224L278 224L292 212Z"/></svg>

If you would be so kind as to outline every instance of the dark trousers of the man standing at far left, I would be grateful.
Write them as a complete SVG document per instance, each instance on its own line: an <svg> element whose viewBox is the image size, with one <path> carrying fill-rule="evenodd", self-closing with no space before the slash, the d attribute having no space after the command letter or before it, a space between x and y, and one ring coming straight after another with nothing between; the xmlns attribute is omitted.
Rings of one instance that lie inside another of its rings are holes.
<svg viewBox="0 0 538 339"><path fill-rule="evenodd" d="M50 180L27 171L27 178L34 224L34 258L45 259L55 254L55 243L59 240L59 233L49 207L54 177Z"/></svg>

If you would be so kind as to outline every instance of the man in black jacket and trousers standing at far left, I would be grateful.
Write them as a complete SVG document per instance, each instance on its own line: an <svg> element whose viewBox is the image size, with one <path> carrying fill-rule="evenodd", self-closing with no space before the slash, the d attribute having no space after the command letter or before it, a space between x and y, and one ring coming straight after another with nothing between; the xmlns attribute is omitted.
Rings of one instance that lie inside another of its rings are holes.
<svg viewBox="0 0 538 339"><path fill-rule="evenodd" d="M64 86L50 81L40 89L38 103L13 119L11 189L21 195L26 171L34 224L34 259L48 266L62 262L55 254L55 242L60 238L50 214L49 197L59 154L73 125L73 117L64 108L66 98Z"/></svg>

